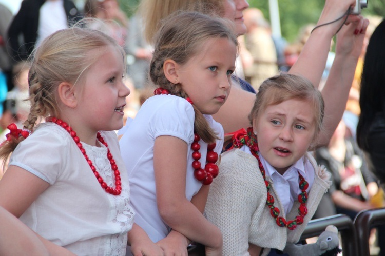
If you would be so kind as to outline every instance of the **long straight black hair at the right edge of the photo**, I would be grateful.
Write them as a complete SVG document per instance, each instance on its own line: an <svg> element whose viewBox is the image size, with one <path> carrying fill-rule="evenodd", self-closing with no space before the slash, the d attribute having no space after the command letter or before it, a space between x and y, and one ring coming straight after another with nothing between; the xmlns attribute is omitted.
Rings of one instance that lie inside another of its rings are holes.
<svg viewBox="0 0 385 256"><path fill-rule="evenodd" d="M369 150L368 135L374 117L382 113L385 117L385 20L374 30L368 44L363 63L360 108L357 125L357 143Z"/></svg>

